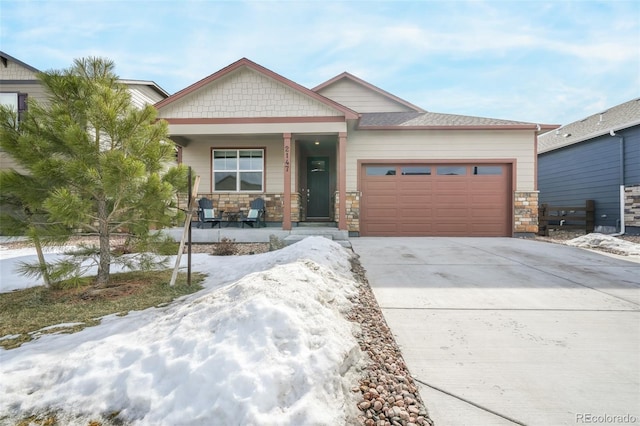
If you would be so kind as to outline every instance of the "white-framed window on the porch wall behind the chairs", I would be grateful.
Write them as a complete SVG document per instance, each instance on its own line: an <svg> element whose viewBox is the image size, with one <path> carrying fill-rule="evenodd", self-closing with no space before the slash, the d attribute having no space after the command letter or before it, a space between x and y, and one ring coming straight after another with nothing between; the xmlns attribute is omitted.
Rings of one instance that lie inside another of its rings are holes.
<svg viewBox="0 0 640 426"><path fill-rule="evenodd" d="M213 190L261 192L264 186L264 150L213 151Z"/></svg>

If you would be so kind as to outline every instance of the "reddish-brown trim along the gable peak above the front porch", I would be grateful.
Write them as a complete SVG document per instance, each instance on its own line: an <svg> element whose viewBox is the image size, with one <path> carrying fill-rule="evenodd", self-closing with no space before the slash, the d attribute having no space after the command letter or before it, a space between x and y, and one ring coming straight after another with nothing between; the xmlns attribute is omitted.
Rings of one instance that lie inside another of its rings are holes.
<svg viewBox="0 0 640 426"><path fill-rule="evenodd" d="M306 96L308 96L308 97L310 97L310 98L312 98L312 99L314 99L314 100L316 100L316 101L318 101L318 102L320 102L322 104L325 104L325 105L327 105L327 106L329 106L329 107L331 107L331 108L333 108L333 109L335 109L337 111L340 111L341 113L344 114L346 119L357 119L358 116L359 116L357 112L345 107L344 105L340 105L339 103L334 102L329 98L326 98L326 97L324 97L324 96L322 96L322 95L320 95L318 93L315 93L314 91L311 91L311 90L307 89L306 87L301 86L298 83L295 83L295 82L289 80L288 78L285 78L285 77L281 76L280 74L277 74L277 73L275 73L275 72L273 72L273 71L271 71L271 70L269 70L269 69L267 69L267 68L265 68L265 67L263 67L261 65L258 65L255 62L250 61L247 58L242 58L242 59L234 62L233 64L221 69L220 71L215 72L215 73L211 74L210 76L205 77L202 80L192 84L191 86L180 90L179 92L169 96L167 99L164 99L164 100L158 102L155 105L155 107L158 108L158 109L161 109L162 107L167 106L167 105L169 105L169 104L171 104L171 103L173 103L173 102L175 102L175 101L177 101L177 100L179 100L179 99L181 99L181 98L183 98L183 97L185 97L185 96L197 91L198 89L208 85L209 83L212 83L212 82L214 82L214 81L216 81L216 80L218 80L218 79L220 79L220 78L222 78L222 77L224 77L224 76L226 76L226 75L228 75L228 74L230 74L230 73L232 73L232 72L234 72L237 69L240 69L242 67L250 68L250 69L252 69L252 70L254 70L254 71L258 72L258 73L261 73L261 74L263 74L263 75L265 75L267 77L270 77L270 78L272 78L272 79L274 79L274 80L276 80L276 81L278 81L278 82L290 87L291 89L294 89L294 90L302 93L303 95L306 95Z"/></svg>

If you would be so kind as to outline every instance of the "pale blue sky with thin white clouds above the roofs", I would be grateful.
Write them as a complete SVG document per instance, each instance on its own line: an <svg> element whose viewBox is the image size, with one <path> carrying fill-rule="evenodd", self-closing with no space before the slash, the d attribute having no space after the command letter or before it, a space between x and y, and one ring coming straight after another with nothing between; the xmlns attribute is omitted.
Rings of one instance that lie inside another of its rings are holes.
<svg viewBox="0 0 640 426"><path fill-rule="evenodd" d="M640 2L0 0L0 50L112 59L175 93L246 57L313 88L347 71L431 112L569 124L640 97Z"/></svg>

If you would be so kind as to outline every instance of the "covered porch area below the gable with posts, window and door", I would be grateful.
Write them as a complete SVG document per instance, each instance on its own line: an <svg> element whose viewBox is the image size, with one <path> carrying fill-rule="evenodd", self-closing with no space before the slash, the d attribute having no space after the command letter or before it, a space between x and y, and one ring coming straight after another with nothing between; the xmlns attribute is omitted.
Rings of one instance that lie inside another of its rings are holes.
<svg viewBox="0 0 640 426"><path fill-rule="evenodd" d="M359 232L359 195L346 192L346 133L174 139L184 145L179 161L201 177L197 199L210 199L216 215L242 217L252 201L262 198L269 226L291 230L307 222L327 222L354 235ZM189 151L183 149L187 145ZM186 198L180 197L180 209L186 209Z"/></svg>

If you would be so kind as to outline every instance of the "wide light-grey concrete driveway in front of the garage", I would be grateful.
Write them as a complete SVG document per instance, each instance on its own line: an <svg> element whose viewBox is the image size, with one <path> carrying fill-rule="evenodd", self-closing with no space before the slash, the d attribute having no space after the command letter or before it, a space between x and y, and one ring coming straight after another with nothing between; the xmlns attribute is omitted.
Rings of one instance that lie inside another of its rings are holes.
<svg viewBox="0 0 640 426"><path fill-rule="evenodd" d="M640 263L514 238L351 243L436 425L640 424Z"/></svg>

